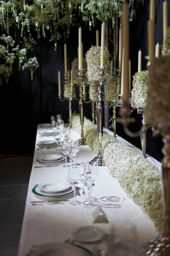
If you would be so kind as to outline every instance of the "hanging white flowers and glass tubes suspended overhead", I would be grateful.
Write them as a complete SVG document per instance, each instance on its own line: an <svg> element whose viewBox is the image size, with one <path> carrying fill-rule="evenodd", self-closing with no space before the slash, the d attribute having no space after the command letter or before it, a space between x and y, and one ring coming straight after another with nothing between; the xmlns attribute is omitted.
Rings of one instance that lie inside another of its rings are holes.
<svg viewBox="0 0 170 256"><path fill-rule="evenodd" d="M5 76L9 77L12 73L12 65L17 59L21 70L21 64L24 64L24 60L27 61L28 50L30 50L30 60L34 59L31 56L33 44L36 44L31 36L33 29L37 32L37 39L50 35L49 42L54 43L56 51L57 41L61 38L65 41L69 37L70 27L79 26L81 20L85 21L86 25L89 23L89 30L95 26L96 19L102 22L107 20L108 26L114 27L117 14L121 26L123 2L124 0L1 0L0 59L4 59L1 76L6 74ZM129 0L130 21L135 18L135 8L141 3L144 5L144 0ZM50 33L46 33L48 30ZM26 63L24 65L27 66Z"/></svg>

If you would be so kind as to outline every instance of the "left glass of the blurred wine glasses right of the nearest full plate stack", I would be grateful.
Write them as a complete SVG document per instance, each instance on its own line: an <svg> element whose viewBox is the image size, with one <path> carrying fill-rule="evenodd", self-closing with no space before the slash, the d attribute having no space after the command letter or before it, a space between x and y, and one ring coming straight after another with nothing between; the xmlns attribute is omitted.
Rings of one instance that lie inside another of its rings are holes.
<svg viewBox="0 0 170 256"><path fill-rule="evenodd" d="M68 178L67 178L67 181L74 185L74 200L70 202L70 204L73 204L73 205L77 205L77 204L80 204L81 202L78 202L76 200L76 185L80 182L80 170L79 168L76 168L76 169L73 169L73 168L69 168L68 170Z"/></svg>

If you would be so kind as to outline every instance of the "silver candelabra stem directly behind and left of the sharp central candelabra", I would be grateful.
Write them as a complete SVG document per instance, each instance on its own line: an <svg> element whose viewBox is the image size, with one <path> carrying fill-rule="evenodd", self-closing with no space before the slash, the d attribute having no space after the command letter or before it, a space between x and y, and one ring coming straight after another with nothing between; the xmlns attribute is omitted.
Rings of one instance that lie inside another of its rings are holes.
<svg viewBox="0 0 170 256"><path fill-rule="evenodd" d="M83 124L84 124L84 102L83 102L83 87L79 83L79 113L80 113L80 124L81 124L81 145L86 145L83 134Z"/></svg>

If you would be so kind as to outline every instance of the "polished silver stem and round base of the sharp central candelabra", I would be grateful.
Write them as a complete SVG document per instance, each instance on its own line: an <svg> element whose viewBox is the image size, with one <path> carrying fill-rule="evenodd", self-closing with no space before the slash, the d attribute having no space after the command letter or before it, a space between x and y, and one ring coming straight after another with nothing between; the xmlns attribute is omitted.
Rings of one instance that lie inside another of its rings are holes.
<svg viewBox="0 0 170 256"><path fill-rule="evenodd" d="M103 136L103 121L104 121L104 108L102 105L102 84L103 80L105 79L104 76L104 69L100 68L100 78L99 83L97 87L97 107L96 107L96 117L97 117L97 133L98 133L98 139L99 139L99 151L98 156L95 157L92 161L89 163L91 165L98 165L98 166L105 166L105 163L103 161L103 154L102 154L102 136Z"/></svg>

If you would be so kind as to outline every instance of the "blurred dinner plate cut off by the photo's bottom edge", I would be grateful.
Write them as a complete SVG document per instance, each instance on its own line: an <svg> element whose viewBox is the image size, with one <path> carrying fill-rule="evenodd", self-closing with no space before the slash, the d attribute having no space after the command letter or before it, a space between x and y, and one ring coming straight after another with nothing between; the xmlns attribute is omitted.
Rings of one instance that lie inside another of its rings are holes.
<svg viewBox="0 0 170 256"><path fill-rule="evenodd" d="M52 243L39 247L31 252L30 256L89 256L86 250L82 247L77 247L70 244Z"/></svg>

